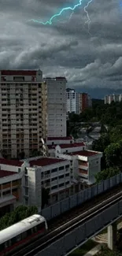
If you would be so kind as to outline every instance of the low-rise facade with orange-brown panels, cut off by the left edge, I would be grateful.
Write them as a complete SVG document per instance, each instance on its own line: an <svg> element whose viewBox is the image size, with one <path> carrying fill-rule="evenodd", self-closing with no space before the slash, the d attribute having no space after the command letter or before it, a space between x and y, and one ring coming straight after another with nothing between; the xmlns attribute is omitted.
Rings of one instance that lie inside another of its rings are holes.
<svg viewBox="0 0 122 256"><path fill-rule="evenodd" d="M22 203L22 176L0 169L0 217Z"/></svg>

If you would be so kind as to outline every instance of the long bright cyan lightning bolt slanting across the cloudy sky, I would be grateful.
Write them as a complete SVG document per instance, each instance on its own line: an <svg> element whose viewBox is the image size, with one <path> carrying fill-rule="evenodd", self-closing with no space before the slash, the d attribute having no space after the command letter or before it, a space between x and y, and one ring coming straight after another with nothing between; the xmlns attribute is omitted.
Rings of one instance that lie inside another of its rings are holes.
<svg viewBox="0 0 122 256"><path fill-rule="evenodd" d="M54 16L52 16L52 17L50 18L50 20L47 20L46 22L42 22L42 21L34 20L34 19L31 19L31 20L29 20L29 21L37 22L37 23L43 24L43 25L46 25L46 24L51 25L51 24L52 24L52 20L54 20L55 17L61 16L61 13L65 12L66 10L72 10L72 11L74 11L77 7L79 7L79 6L82 5L82 2L83 2L83 0L79 0L79 3L78 3L77 5L75 5L75 6L73 6L73 7L70 7L70 6L69 6L69 7L66 7L66 8L61 9L61 12L60 12L60 13L54 14ZM92 2L92 0L91 0L91 2Z"/></svg>

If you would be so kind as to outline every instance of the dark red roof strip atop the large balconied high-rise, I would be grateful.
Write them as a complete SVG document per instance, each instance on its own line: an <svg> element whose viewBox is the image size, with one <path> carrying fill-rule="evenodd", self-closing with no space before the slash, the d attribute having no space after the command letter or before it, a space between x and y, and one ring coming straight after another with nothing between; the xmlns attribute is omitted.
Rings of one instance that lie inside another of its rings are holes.
<svg viewBox="0 0 122 256"><path fill-rule="evenodd" d="M1 70L2 76L36 76L35 70Z"/></svg>

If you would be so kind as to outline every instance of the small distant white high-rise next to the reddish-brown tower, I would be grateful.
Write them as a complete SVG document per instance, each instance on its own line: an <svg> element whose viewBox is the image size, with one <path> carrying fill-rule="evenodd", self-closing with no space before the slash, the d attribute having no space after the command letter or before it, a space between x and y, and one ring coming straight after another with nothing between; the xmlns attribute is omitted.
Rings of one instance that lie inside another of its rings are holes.
<svg viewBox="0 0 122 256"><path fill-rule="evenodd" d="M66 89L67 113L79 113L79 94L74 90Z"/></svg>

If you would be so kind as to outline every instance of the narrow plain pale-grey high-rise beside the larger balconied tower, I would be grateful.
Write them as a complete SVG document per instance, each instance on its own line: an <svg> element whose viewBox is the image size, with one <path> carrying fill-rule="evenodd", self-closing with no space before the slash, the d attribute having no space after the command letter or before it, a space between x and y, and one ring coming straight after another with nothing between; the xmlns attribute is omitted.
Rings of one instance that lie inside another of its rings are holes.
<svg viewBox="0 0 122 256"><path fill-rule="evenodd" d="M65 77L46 77L47 84L47 135L48 137L66 136Z"/></svg>

